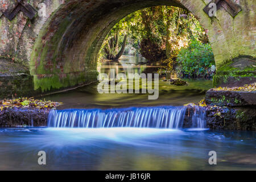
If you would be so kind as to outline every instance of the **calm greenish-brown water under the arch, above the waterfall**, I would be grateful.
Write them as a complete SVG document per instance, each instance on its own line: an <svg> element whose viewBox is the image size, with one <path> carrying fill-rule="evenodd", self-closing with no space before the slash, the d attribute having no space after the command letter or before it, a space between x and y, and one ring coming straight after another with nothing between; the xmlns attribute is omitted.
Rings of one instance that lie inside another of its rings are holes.
<svg viewBox="0 0 256 182"><path fill-rule="evenodd" d="M101 63L98 65L99 73L110 75L118 73L154 73L160 67L144 64L143 58L123 56L119 63ZM44 96L42 99L63 102L60 109L68 108L112 108L130 106L180 106L189 102L199 102L205 96L205 92L212 88L212 80L184 79L188 86L174 86L169 82L159 81L158 100L148 100L148 94L100 94L97 92L98 83L71 90L69 92Z"/></svg>

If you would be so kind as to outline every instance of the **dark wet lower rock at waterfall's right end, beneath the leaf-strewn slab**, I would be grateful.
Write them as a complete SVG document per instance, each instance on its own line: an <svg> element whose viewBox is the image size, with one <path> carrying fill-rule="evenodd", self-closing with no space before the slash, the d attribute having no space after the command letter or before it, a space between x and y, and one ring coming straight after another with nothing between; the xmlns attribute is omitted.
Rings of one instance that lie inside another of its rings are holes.
<svg viewBox="0 0 256 182"><path fill-rule="evenodd" d="M206 120L206 126L212 130L256 130L256 105L247 105L239 107L221 106L207 104L207 101L201 100L197 104L187 104L183 125L192 126L192 117L196 111L203 113L203 119Z"/></svg>

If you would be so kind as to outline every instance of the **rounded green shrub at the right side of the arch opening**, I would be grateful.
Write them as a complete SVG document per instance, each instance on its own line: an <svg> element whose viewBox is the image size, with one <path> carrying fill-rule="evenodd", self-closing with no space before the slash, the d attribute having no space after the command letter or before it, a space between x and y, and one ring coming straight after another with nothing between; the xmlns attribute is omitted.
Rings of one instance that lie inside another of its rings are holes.
<svg viewBox="0 0 256 182"><path fill-rule="evenodd" d="M182 77L212 77L215 62L212 48L193 39L187 48L182 48L177 55L177 73Z"/></svg>

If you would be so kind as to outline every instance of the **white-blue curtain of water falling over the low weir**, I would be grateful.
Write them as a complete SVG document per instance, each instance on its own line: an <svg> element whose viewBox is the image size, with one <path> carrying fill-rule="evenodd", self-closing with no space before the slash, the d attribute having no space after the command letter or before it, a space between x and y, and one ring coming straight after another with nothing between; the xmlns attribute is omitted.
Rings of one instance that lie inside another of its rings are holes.
<svg viewBox="0 0 256 182"><path fill-rule="evenodd" d="M174 106L131 107L127 109L51 110L48 127L151 127L178 129L183 127L187 108ZM200 119L200 122L197 120ZM204 128L204 114L196 110L193 127Z"/></svg>

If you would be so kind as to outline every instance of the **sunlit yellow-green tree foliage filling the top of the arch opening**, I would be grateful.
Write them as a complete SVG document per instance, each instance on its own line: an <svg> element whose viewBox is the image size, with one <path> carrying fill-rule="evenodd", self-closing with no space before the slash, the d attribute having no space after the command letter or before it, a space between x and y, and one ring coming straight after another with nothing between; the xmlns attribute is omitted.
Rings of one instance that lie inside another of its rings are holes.
<svg viewBox="0 0 256 182"><path fill-rule="evenodd" d="M152 6L127 15L110 30L102 47L108 43L112 44L113 41L112 43L110 41L117 35L121 38L118 39L118 44L122 44L126 34L128 34L127 44L141 49L143 53L154 52L154 47L144 48L141 42L157 44L156 52L159 52L160 48L160 54L162 55L164 51L167 58L170 57L172 51L187 45L192 36L208 41L204 29L195 16L185 9L174 6ZM104 49L101 49L101 54L104 55ZM156 55L157 53L148 54Z"/></svg>

